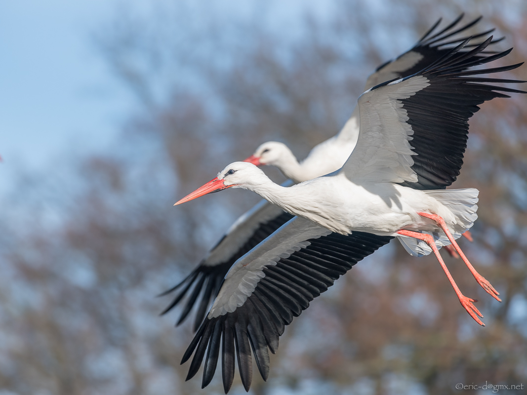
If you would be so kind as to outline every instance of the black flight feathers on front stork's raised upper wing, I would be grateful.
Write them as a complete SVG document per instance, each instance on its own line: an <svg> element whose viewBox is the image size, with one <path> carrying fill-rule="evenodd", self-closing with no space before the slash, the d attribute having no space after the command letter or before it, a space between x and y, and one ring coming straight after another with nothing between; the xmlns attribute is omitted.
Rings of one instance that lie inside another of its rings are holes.
<svg viewBox="0 0 527 395"><path fill-rule="evenodd" d="M526 93L514 88L483 83L515 84L525 81L502 78L471 77L513 70L521 66L466 70L468 67L486 64L508 55L512 48L496 54L481 56L492 42L492 36L471 51L461 52L471 40L467 38L452 48L440 59L414 75L402 78L406 81L417 75L427 78L430 85L415 95L401 100L408 115L413 134L409 141L416 155L412 156L412 169L417 182L403 182L401 185L414 189L445 189L460 174L463 154L469 134L469 118L480 110L479 104L495 97L510 97L502 92ZM372 90L386 86L387 81Z"/></svg>

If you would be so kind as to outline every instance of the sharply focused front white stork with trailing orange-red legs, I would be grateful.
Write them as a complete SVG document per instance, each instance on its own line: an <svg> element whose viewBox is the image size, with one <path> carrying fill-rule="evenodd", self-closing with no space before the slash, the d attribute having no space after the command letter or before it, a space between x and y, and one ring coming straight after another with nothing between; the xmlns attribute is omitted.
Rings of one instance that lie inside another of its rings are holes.
<svg viewBox="0 0 527 395"><path fill-rule="evenodd" d="M291 187L272 183L257 166L235 162L218 177L176 204L229 187L260 194L296 215L229 270L207 318L182 363L194 353L189 374L197 373L207 351L202 386L212 379L222 346L223 386L232 384L235 358L243 386L252 378L251 348L262 378L269 354L293 317L309 306L364 256L397 236L413 255L437 257L461 304L481 325L474 299L465 297L448 272L438 247L452 243L476 281L500 300L455 242L477 218L476 189L418 190L427 180L455 180L466 148L468 120L478 105L502 92L527 93L484 83L524 81L479 75L513 70L520 64L466 71L511 50L476 57L492 37L455 56L467 41L413 76L374 86L358 99L360 132L344 166Z"/></svg>

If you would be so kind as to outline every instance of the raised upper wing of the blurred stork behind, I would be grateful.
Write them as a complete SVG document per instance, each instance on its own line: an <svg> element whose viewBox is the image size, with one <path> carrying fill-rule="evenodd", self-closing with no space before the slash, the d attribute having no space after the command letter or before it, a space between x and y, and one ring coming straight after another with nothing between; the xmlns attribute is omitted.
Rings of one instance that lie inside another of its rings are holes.
<svg viewBox="0 0 527 395"><path fill-rule="evenodd" d="M439 19L411 50L377 67L375 72L368 77L364 90L386 81L392 81L395 78L413 75L446 55L452 49L452 45L470 39L465 48L474 47L476 44L472 43L473 40L487 36L494 31L494 29L489 29L471 36L460 37L458 36L460 33L466 34L466 31L480 22L482 18L480 16L465 25L459 26L463 16L464 14L461 14L451 24L435 32L441 23L441 19ZM494 40L492 43L497 43L501 40L503 40L503 37L499 40ZM463 51L458 53L458 55L462 54Z"/></svg>

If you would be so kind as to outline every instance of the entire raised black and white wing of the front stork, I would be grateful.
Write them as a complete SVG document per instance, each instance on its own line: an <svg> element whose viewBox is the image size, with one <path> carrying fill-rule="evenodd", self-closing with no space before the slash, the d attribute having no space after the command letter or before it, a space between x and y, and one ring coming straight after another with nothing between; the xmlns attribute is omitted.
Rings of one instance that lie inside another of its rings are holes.
<svg viewBox="0 0 527 395"><path fill-rule="evenodd" d="M460 174L468 121L479 111L478 105L495 97L510 97L502 92L526 93L485 84L524 81L478 76L513 70L522 63L465 70L512 50L481 57L491 41L492 36L472 51L456 56L466 40L423 71L374 86L360 95L357 145L341 169L348 179L363 185L394 182L421 190L451 185Z"/></svg>

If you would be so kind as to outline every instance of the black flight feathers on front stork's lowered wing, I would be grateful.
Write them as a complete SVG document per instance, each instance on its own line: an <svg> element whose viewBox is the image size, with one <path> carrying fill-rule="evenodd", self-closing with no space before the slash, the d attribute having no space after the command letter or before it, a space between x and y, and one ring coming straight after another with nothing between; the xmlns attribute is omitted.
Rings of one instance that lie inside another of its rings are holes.
<svg viewBox="0 0 527 395"><path fill-rule="evenodd" d="M252 380L252 354L264 380L269 375L269 350L275 353L285 325L298 317L309 302L365 256L393 238L364 232L350 235L331 233L310 239L310 245L264 268L265 277L245 303L232 313L206 318L184 353L181 363L194 353L187 380L199 370L203 358L202 388L216 371L221 348L223 389L227 393L238 360L243 387ZM207 351L207 353L206 353Z"/></svg>

